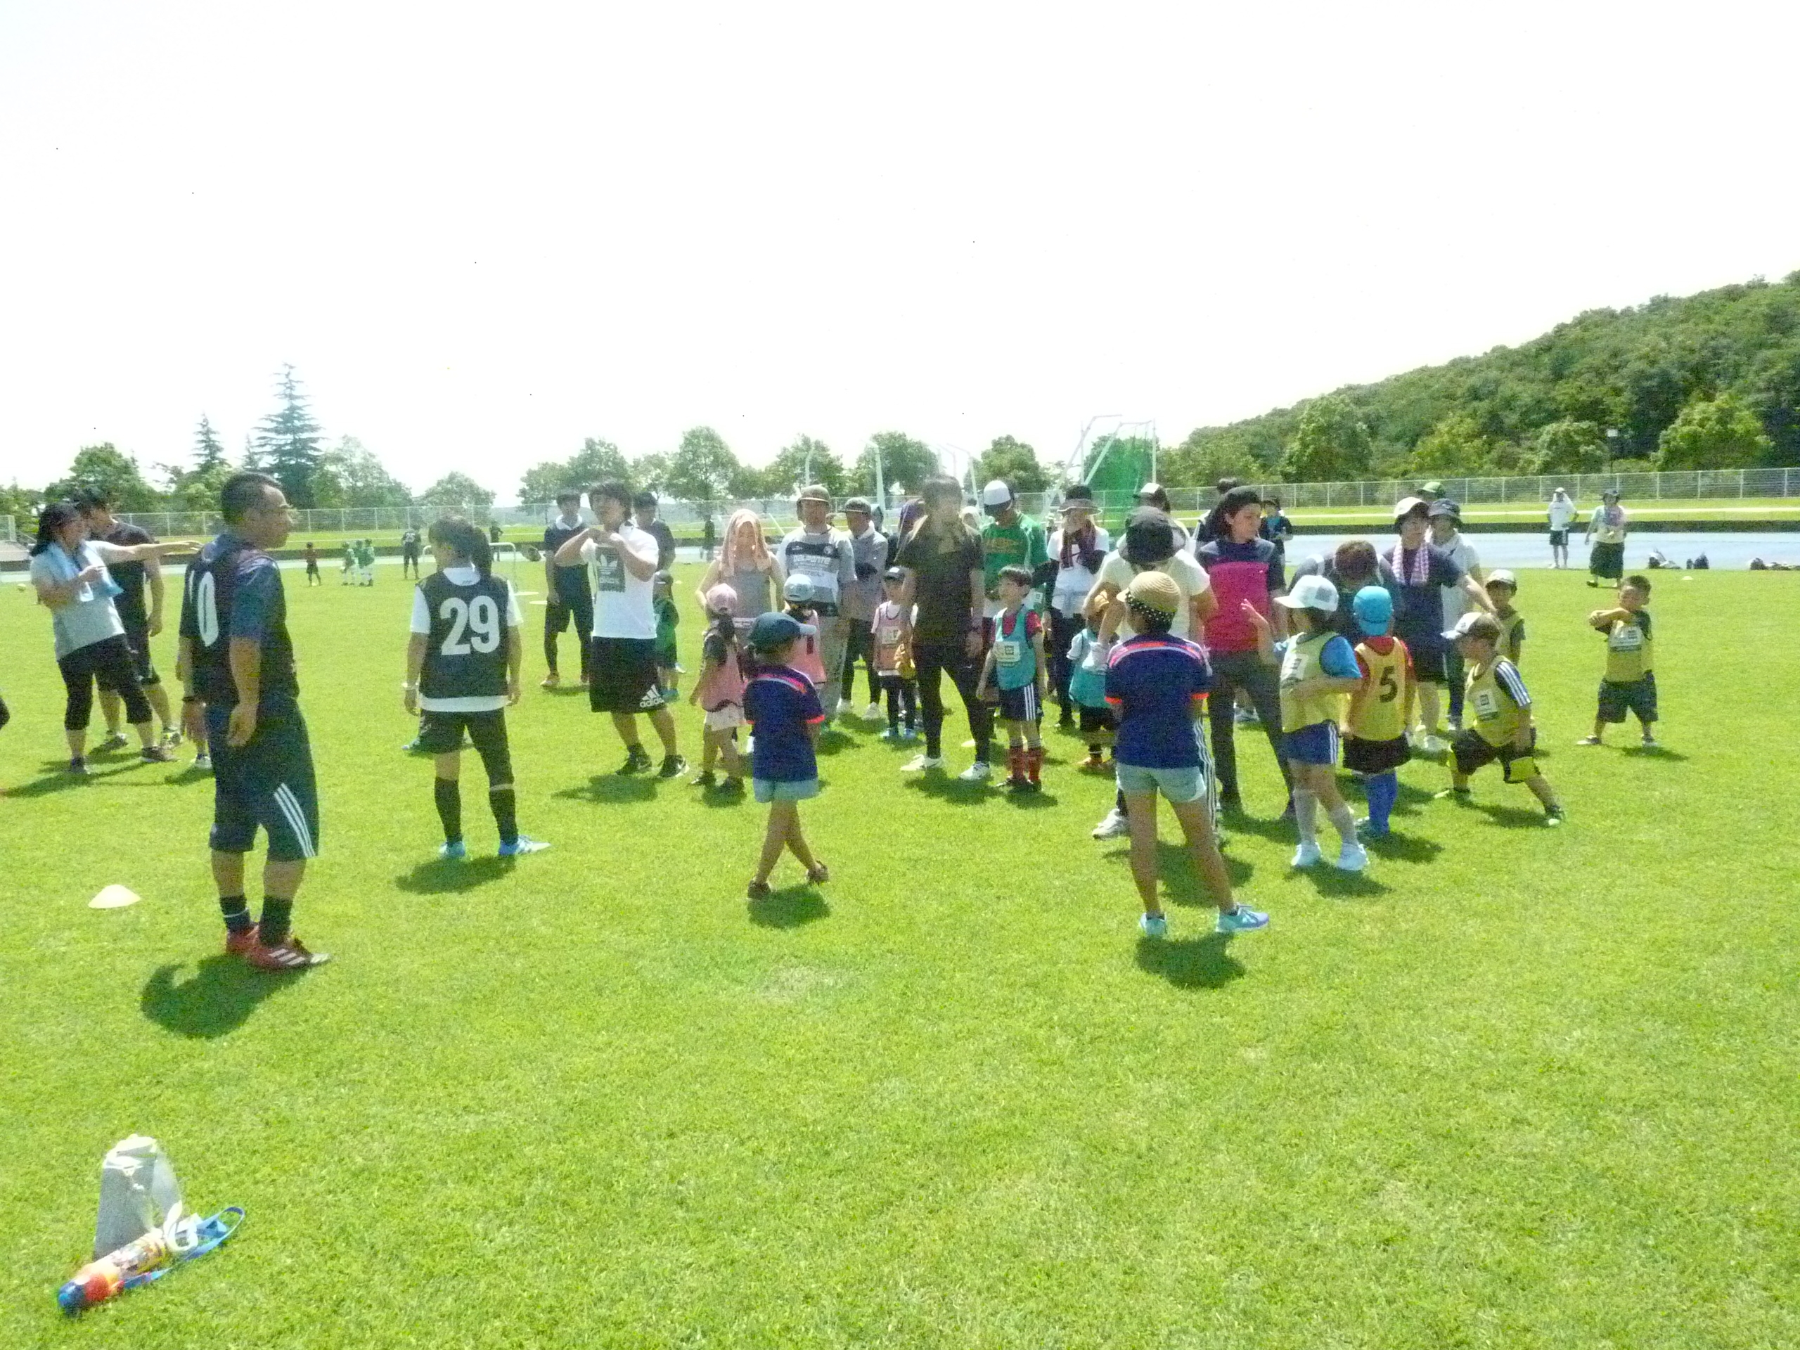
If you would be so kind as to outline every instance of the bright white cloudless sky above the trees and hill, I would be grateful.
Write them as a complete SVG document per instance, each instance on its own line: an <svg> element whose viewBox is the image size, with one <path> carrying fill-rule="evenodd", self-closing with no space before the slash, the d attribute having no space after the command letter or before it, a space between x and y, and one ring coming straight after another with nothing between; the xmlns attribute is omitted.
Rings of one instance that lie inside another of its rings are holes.
<svg viewBox="0 0 1800 1350"><path fill-rule="evenodd" d="M1174 441L1800 268L1795 5L0 4L0 481Z"/></svg>

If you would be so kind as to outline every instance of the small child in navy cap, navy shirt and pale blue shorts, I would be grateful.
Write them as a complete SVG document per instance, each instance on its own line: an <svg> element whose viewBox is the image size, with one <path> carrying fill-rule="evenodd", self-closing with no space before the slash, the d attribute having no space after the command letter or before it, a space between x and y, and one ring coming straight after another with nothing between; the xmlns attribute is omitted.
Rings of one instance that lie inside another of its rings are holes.
<svg viewBox="0 0 1800 1350"><path fill-rule="evenodd" d="M754 733L751 783L756 799L769 803L769 830L763 833L756 877L751 878L751 900L769 896L769 875L781 860L783 848L794 850L794 857L806 868L808 882L817 886L832 878L806 848L799 828L799 803L819 796L814 743L819 740L824 707L819 706L814 682L788 662L799 643L814 634L814 628L787 614L763 614L751 626L756 677L743 688L743 715Z"/></svg>

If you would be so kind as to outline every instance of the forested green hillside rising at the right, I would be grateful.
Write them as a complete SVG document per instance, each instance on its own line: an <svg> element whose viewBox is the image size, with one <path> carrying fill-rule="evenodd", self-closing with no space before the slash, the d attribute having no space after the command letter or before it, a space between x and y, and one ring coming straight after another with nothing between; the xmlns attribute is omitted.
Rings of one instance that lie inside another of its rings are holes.
<svg viewBox="0 0 1800 1350"><path fill-rule="evenodd" d="M1202 427L1163 452L1163 479L1571 473L1609 461L1800 464L1800 272L1591 310L1519 347Z"/></svg>

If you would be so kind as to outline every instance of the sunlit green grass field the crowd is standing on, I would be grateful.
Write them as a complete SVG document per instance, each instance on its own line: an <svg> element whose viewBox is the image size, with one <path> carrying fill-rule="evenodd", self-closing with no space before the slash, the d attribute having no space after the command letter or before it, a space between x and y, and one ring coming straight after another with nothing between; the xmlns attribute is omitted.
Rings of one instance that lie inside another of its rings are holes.
<svg viewBox="0 0 1800 1350"><path fill-rule="evenodd" d="M1111 787L1055 733L1010 801L855 727L803 812L833 880L788 860L751 907L761 808L612 778L607 720L531 688L520 819L553 851L437 864L398 749L409 590L295 580L324 797L297 931L337 954L301 977L218 954L207 778L56 774L49 617L0 592L4 1343L1800 1343L1789 578L1658 585L1643 754L1573 747L1595 592L1525 574L1561 832L1492 770L1431 801L1415 763L1364 878L1289 875L1240 736L1228 859L1273 923L1229 943L1172 846L1170 941L1139 940L1121 842L1087 837ZM108 882L144 902L86 909ZM133 1130L248 1222L67 1325Z"/></svg>

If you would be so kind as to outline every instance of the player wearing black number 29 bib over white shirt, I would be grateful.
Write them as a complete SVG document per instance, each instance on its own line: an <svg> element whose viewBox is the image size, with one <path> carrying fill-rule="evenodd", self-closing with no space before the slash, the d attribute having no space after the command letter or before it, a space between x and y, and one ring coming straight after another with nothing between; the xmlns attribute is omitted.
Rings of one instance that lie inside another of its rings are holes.
<svg viewBox="0 0 1800 1350"><path fill-rule="evenodd" d="M524 616L513 583L493 574L493 545L468 520L432 524L437 571L412 592L403 704L421 715L418 747L434 756L432 799L445 830L437 857L461 862L463 736L488 772L488 808L500 833L500 857L538 853L549 844L518 833L518 794L506 709L518 704Z"/></svg>

